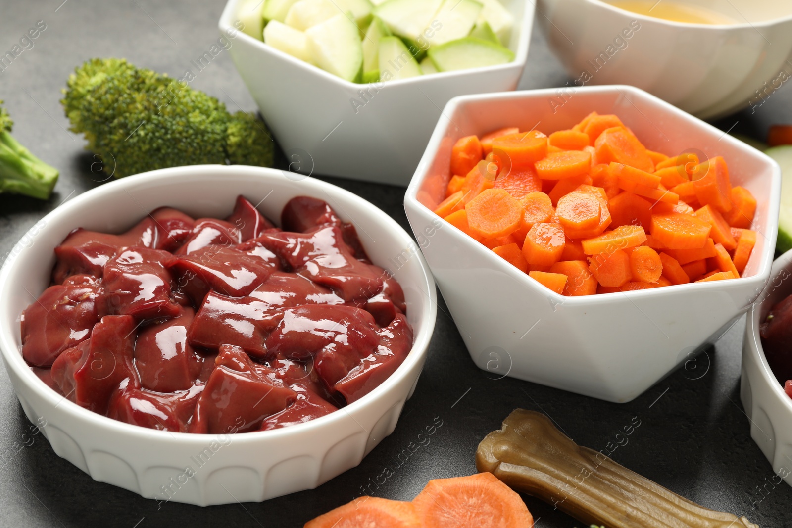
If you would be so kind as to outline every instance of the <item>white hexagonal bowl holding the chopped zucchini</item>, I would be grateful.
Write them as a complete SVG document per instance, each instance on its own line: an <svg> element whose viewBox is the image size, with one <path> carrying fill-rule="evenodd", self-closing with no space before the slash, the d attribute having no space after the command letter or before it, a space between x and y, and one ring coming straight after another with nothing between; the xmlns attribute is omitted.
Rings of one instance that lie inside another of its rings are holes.
<svg viewBox="0 0 792 528"><path fill-rule="evenodd" d="M242 2L229 0L220 32L233 30ZM520 81L534 5L503 4L515 18L516 58L500 66L356 84L243 33L229 53L289 161L317 174L406 185L451 97L513 90Z"/></svg>

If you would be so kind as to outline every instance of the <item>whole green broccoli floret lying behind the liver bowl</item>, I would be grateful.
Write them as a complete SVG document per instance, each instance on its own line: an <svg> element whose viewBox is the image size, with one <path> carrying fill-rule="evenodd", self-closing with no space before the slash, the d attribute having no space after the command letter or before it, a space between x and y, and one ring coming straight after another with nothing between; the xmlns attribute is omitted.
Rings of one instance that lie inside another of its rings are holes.
<svg viewBox="0 0 792 528"><path fill-rule="evenodd" d="M63 108L115 177L200 164L272 166L263 121L124 59L91 59L69 76Z"/></svg>

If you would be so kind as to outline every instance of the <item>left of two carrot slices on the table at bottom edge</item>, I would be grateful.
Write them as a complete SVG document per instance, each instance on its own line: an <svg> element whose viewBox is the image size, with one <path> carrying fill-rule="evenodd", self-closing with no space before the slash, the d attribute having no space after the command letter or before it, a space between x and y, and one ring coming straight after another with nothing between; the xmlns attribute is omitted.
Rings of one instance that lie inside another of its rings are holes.
<svg viewBox="0 0 792 528"><path fill-rule="evenodd" d="M319 515L316 519L306 522L304 528L360 528L361 526L421 528L423 525L413 503L364 496L324 515Z"/></svg>

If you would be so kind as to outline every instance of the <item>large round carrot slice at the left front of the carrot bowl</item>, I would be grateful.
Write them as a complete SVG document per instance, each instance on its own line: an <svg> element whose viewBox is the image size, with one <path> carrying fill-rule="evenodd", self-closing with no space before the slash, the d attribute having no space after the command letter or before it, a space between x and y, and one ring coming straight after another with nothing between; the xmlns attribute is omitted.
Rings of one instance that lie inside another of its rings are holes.
<svg viewBox="0 0 792 528"><path fill-rule="evenodd" d="M523 207L504 189L486 189L465 206L471 230L485 238L505 237L520 226Z"/></svg>

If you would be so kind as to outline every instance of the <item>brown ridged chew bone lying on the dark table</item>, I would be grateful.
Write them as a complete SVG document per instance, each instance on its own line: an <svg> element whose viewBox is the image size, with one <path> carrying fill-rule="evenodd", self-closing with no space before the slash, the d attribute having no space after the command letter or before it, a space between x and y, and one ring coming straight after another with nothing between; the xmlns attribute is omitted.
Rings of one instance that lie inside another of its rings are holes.
<svg viewBox="0 0 792 528"><path fill-rule="evenodd" d="M759 528L676 495L588 447L547 418L516 409L476 451L479 471L539 497L581 522L608 528Z"/></svg>

